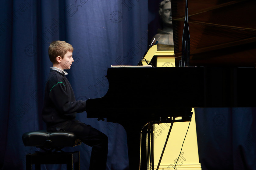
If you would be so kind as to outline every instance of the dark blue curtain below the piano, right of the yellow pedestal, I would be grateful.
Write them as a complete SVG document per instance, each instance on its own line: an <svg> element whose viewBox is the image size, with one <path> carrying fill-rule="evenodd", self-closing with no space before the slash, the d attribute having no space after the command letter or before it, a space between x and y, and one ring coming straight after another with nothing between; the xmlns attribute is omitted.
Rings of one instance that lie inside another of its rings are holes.
<svg viewBox="0 0 256 170"><path fill-rule="evenodd" d="M202 170L256 169L256 108L195 108Z"/></svg>

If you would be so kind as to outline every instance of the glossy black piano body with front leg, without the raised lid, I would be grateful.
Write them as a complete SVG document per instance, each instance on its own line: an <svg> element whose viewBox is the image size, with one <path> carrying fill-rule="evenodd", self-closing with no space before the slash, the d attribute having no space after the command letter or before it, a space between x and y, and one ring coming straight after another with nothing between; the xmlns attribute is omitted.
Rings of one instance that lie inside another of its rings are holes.
<svg viewBox="0 0 256 170"><path fill-rule="evenodd" d="M139 169L144 125L161 117L191 116L192 107L256 106L255 76L256 68L108 68L108 91L87 100L87 118L121 124L130 169Z"/></svg>

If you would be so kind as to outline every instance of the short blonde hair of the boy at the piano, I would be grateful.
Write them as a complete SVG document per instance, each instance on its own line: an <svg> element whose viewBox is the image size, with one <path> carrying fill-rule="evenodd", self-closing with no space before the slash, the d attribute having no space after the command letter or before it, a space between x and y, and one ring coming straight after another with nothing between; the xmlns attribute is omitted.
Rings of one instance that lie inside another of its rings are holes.
<svg viewBox="0 0 256 170"><path fill-rule="evenodd" d="M65 41L53 41L48 49L49 58L52 63L56 63L56 57L60 56L62 59L64 55L69 51L73 53L73 47L71 44Z"/></svg>

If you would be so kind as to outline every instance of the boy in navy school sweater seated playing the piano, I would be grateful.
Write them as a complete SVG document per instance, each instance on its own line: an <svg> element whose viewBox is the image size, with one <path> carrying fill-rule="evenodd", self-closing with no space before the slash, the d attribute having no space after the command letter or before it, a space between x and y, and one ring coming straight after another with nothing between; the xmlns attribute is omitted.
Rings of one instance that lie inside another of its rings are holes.
<svg viewBox="0 0 256 170"><path fill-rule="evenodd" d="M90 125L76 120L76 113L85 111L85 102L76 101L73 89L66 78L70 69L73 47L65 41L50 44L49 58L53 63L45 87L43 121L47 131L70 131L85 144L92 146L90 170L105 170L108 154L108 137Z"/></svg>

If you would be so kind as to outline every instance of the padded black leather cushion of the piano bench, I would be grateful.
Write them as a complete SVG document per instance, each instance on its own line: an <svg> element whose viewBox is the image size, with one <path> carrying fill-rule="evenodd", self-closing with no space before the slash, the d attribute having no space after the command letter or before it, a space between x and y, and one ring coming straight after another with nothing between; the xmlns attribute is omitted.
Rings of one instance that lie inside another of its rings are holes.
<svg viewBox="0 0 256 170"><path fill-rule="evenodd" d="M76 135L72 132L56 131L31 131L22 135L23 144L25 146L37 147L65 147L76 146L81 144Z"/></svg>

